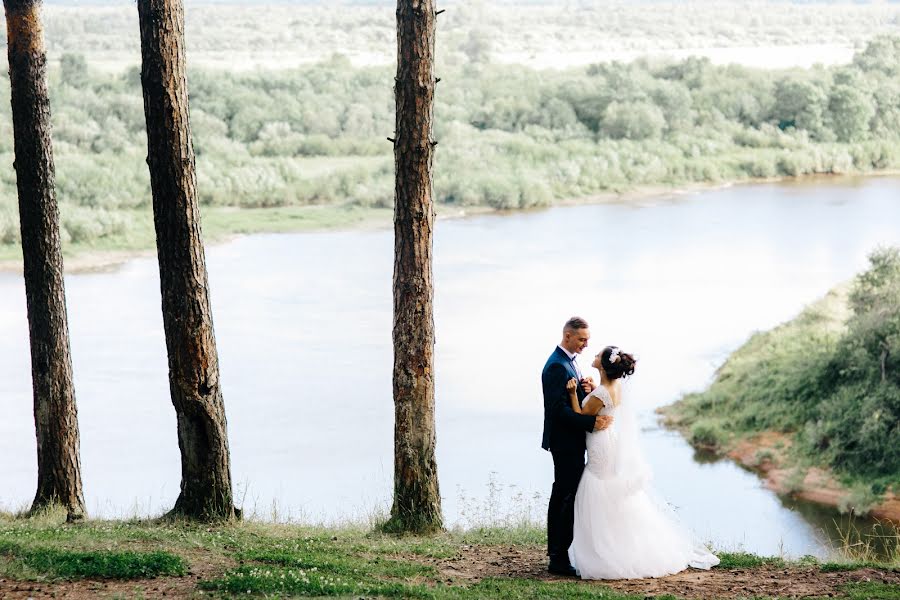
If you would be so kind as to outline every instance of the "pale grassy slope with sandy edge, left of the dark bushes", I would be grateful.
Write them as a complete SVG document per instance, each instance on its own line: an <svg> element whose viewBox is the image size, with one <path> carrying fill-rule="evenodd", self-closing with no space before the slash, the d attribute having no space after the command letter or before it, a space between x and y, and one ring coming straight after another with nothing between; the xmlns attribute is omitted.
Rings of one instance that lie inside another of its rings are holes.
<svg viewBox="0 0 900 600"><path fill-rule="evenodd" d="M848 291L849 285L839 286L794 319L754 334L728 357L706 390L660 410L666 425L681 431L694 447L730 455L745 466L760 468L770 479L787 472L780 483L773 481L782 492L834 501L842 511L865 513L875 507L882 498L871 488L885 478L835 473L821 453L799 443L830 391L823 389L823 382L829 381L823 369L847 329ZM755 453L748 454L748 448ZM807 477L813 467L822 475ZM816 497L819 486L834 493ZM877 513L894 514L886 505Z"/></svg>

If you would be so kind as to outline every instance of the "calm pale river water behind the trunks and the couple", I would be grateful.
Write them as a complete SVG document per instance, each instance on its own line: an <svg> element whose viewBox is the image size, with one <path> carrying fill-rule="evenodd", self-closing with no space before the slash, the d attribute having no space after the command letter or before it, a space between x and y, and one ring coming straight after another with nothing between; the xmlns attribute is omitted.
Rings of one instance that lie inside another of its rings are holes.
<svg viewBox="0 0 900 600"><path fill-rule="evenodd" d="M757 330L900 244L900 180L758 185L630 205L442 221L435 240L444 512L543 519L540 369L572 314L592 351L639 368L629 399L657 484L722 548L823 555L835 513L786 504L730 462L695 460L653 415L701 389ZM248 512L341 521L389 506L391 231L258 235L210 247L233 475ZM153 259L66 279L88 507L159 513L179 485ZM25 294L0 275L0 507L36 480ZM801 507L802 508L802 507Z"/></svg>

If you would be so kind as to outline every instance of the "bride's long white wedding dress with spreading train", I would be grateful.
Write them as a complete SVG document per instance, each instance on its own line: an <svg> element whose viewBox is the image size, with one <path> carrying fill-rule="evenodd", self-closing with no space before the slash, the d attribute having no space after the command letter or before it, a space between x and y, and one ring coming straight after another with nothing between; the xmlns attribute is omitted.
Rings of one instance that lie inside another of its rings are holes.
<svg viewBox="0 0 900 600"><path fill-rule="evenodd" d="M607 429L587 434L588 462L575 496L575 536L569 548L581 578L661 577L719 564L656 499L631 410L621 403L614 407L603 386L592 395L605 405L600 414L614 419Z"/></svg>

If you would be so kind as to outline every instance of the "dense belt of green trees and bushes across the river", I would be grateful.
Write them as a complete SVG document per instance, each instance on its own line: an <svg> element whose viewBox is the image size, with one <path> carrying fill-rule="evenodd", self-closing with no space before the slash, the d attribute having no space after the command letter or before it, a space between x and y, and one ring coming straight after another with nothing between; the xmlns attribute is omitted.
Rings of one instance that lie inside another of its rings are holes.
<svg viewBox="0 0 900 600"><path fill-rule="evenodd" d="M897 167L898 72L900 38L890 37L851 65L810 70L697 58L565 71L448 65L435 113L437 200L525 208L641 185ZM341 56L290 71L192 70L201 201L390 206L392 76ZM64 243L127 244L150 219L137 69L103 73L66 54L51 103ZM0 161L13 161L2 103ZM0 171L0 247L19 241L14 182L11 168Z"/></svg>

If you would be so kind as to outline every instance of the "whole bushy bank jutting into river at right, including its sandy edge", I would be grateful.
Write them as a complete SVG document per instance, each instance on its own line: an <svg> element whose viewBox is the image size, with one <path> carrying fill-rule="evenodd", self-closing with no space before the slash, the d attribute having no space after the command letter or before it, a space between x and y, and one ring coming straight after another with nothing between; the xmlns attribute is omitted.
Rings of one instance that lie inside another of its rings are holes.
<svg viewBox="0 0 900 600"><path fill-rule="evenodd" d="M665 426L779 494L900 524L900 389L884 337L898 281L900 252L875 251L852 282L753 334L707 389L659 409Z"/></svg>

